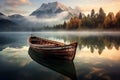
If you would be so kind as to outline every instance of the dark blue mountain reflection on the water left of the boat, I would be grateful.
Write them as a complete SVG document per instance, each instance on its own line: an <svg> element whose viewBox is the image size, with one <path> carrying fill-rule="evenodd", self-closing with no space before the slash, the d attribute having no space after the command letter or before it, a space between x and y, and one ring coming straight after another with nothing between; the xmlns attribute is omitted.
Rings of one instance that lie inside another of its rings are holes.
<svg viewBox="0 0 120 80"><path fill-rule="evenodd" d="M6 47L22 48L26 46L26 39L30 33L0 32L0 51Z"/></svg>

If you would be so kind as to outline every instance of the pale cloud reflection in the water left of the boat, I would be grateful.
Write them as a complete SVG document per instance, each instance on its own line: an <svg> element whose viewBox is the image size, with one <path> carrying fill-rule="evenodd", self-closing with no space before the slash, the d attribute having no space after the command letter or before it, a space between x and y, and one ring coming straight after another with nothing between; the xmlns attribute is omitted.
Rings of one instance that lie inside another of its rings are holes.
<svg viewBox="0 0 120 80"><path fill-rule="evenodd" d="M28 48L27 46L23 46L22 48L7 47L0 52L0 56L2 56L2 60L7 64L26 66L31 62L31 58L27 53ZM21 54L19 52L21 52Z"/></svg>

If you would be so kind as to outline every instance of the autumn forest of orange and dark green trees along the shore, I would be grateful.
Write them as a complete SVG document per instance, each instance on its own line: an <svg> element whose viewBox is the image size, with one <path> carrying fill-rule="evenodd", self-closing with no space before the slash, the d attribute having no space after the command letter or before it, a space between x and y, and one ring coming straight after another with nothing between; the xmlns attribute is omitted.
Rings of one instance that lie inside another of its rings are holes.
<svg viewBox="0 0 120 80"><path fill-rule="evenodd" d="M109 12L108 15L102 8L96 13L91 10L87 16L80 12L79 16L74 16L70 20L64 21L63 24L46 26L45 30L120 30L120 11L114 15Z"/></svg>

